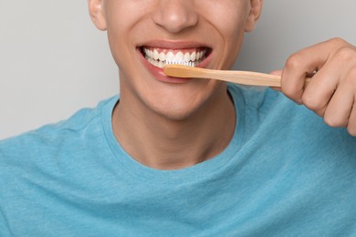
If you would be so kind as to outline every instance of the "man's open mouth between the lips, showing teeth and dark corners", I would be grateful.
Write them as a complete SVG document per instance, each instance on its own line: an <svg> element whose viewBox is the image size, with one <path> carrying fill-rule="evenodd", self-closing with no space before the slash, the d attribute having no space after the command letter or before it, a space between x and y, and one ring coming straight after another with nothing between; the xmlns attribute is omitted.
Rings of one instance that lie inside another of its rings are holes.
<svg viewBox="0 0 356 237"><path fill-rule="evenodd" d="M151 46L141 46L141 54L155 67L164 67L167 64L179 64L197 67L212 49L208 47L169 49Z"/></svg>

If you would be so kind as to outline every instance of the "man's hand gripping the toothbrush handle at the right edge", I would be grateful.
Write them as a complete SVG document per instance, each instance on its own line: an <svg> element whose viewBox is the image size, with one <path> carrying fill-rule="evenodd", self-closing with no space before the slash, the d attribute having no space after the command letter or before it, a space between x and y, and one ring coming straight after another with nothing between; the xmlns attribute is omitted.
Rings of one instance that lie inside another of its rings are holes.
<svg viewBox="0 0 356 237"><path fill-rule="evenodd" d="M308 75L316 72L305 86ZM298 51L282 71L282 92L331 127L356 136L356 47L340 38Z"/></svg>

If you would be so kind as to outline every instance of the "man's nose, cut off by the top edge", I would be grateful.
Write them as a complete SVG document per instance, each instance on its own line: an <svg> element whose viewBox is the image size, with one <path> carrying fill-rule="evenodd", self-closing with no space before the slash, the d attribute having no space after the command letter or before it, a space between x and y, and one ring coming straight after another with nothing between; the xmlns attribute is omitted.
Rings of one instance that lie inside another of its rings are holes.
<svg viewBox="0 0 356 237"><path fill-rule="evenodd" d="M198 14L193 0L161 0L153 13L153 21L170 33L179 33L183 29L198 23Z"/></svg>

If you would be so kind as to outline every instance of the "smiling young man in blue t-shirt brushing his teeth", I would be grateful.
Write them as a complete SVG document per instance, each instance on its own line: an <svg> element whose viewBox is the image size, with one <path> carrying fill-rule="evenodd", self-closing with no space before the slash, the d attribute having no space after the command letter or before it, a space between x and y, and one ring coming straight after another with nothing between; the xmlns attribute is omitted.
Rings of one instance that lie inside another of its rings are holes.
<svg viewBox="0 0 356 237"><path fill-rule="evenodd" d="M120 98L0 143L0 233L356 234L354 46L296 53L276 72L282 92L162 72L166 60L231 67L261 7L89 0Z"/></svg>

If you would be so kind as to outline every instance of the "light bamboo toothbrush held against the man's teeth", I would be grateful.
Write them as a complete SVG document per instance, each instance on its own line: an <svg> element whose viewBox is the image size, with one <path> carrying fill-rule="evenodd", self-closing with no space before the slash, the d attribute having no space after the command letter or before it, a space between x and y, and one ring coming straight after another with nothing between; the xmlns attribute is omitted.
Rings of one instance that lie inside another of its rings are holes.
<svg viewBox="0 0 356 237"><path fill-rule="evenodd" d="M164 67L164 74L170 77L210 78L247 86L280 88L280 76L258 72L213 70L200 67L168 64ZM307 78L306 82L309 82L309 78Z"/></svg>

